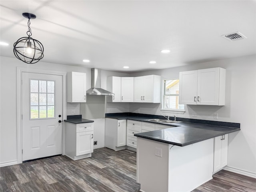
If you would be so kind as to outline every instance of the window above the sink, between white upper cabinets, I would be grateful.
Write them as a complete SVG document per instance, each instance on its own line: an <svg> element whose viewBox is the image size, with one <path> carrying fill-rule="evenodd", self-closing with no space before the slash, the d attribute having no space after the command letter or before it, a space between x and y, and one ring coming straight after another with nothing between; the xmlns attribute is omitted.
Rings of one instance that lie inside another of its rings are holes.
<svg viewBox="0 0 256 192"><path fill-rule="evenodd" d="M179 79L164 80L163 110L184 110L184 105L179 104Z"/></svg>

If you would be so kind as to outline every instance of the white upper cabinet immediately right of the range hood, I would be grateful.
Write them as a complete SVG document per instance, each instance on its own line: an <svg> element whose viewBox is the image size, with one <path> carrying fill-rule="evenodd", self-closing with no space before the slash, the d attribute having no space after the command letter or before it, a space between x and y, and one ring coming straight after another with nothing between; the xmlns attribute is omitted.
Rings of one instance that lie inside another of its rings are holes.
<svg viewBox="0 0 256 192"><path fill-rule="evenodd" d="M108 77L107 90L115 94L107 96L107 102L121 102L121 77Z"/></svg>

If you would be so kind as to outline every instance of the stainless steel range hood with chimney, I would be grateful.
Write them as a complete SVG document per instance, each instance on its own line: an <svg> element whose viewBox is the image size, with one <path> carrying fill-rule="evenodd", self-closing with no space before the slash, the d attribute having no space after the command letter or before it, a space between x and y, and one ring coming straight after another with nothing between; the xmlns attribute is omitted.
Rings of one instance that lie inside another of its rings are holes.
<svg viewBox="0 0 256 192"><path fill-rule="evenodd" d="M88 95L115 95L112 92L101 88L101 70L97 68L91 68L91 85L92 88L86 91Z"/></svg>

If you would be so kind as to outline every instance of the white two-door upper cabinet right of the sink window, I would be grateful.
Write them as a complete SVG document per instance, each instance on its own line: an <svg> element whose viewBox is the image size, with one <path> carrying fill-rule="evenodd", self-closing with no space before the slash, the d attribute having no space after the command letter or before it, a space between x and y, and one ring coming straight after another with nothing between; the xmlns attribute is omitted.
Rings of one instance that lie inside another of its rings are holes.
<svg viewBox="0 0 256 192"><path fill-rule="evenodd" d="M180 72L179 104L225 105L226 69Z"/></svg>

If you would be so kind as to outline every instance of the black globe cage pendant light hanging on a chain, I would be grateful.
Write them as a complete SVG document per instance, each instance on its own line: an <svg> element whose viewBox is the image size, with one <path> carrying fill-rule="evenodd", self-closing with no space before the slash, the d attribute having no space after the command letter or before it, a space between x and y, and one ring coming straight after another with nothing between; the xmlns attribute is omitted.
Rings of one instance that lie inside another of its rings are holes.
<svg viewBox="0 0 256 192"><path fill-rule="evenodd" d="M28 37L19 38L13 44L13 52L19 60L32 64L44 57L44 46L38 40L31 37L30 19L35 19L36 16L31 13L23 13L22 15L28 18Z"/></svg>

